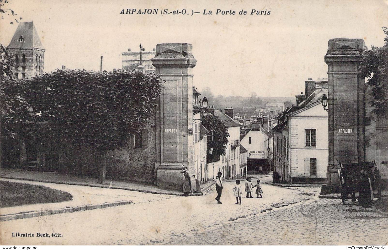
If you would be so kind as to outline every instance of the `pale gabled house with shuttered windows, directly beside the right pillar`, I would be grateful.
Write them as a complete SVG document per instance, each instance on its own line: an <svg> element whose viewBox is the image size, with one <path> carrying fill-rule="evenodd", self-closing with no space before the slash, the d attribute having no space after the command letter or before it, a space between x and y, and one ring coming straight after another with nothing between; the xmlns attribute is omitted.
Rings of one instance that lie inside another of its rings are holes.
<svg viewBox="0 0 388 250"><path fill-rule="evenodd" d="M307 81L309 86L311 80ZM306 83L306 84L307 84ZM324 183L328 151L328 114L321 98L327 80L315 81L315 90L286 109L274 130L274 172L286 183ZM298 98L298 97L297 97Z"/></svg>

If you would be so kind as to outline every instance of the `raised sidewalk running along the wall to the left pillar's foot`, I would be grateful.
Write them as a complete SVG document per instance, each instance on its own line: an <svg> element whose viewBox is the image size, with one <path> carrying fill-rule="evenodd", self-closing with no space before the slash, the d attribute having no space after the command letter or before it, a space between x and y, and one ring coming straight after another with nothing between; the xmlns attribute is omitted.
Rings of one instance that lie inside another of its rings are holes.
<svg viewBox="0 0 388 250"><path fill-rule="evenodd" d="M39 181L49 182L57 184L68 184L68 185L81 185L89 187L106 187L111 189L124 189L129 191L138 191L151 194L170 194L187 196L182 192L160 189L156 186L149 184L130 182L130 181L116 181L106 180L105 184L100 184L97 178L92 177L79 177L70 174L62 174L56 172L41 172L36 170L24 170L20 168L2 168L0 170L0 177L7 179L18 179L25 181ZM211 183L201 184L201 189L206 189ZM202 193L190 194L190 196L203 195Z"/></svg>

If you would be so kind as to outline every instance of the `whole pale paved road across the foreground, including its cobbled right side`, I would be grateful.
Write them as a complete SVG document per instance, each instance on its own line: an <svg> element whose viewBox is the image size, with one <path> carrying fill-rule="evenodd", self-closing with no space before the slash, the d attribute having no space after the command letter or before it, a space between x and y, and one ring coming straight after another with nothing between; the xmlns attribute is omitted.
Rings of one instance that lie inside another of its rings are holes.
<svg viewBox="0 0 388 250"><path fill-rule="evenodd" d="M263 199L243 198L242 205L235 205L233 185L225 183L223 204L214 200L215 190L206 196L161 196L157 200L153 194L133 192L136 199L126 206L1 222L0 239L8 245L386 242L381 235L388 235L387 218L362 212L357 206L342 206L340 200L315 201L319 187L288 189L264 184ZM127 192L130 197L131 191ZM12 232L63 236L19 238L10 237Z"/></svg>

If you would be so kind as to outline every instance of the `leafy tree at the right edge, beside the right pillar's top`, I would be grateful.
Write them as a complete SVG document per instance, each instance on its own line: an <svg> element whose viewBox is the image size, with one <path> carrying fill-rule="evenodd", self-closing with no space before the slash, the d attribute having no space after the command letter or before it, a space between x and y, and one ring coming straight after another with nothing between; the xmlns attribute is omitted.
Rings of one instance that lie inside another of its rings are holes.
<svg viewBox="0 0 388 250"><path fill-rule="evenodd" d="M384 46L365 49L359 67L360 75L369 78L372 112L378 116L388 115L388 28L382 29L386 35Z"/></svg>

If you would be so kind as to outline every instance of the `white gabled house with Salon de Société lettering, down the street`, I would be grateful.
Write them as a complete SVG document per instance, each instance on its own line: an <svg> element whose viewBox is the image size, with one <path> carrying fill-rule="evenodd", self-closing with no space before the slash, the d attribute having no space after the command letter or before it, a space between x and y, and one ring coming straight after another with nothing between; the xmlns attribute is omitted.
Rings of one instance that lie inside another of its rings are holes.
<svg viewBox="0 0 388 250"><path fill-rule="evenodd" d="M268 119L267 119L268 120ZM270 172L270 154L267 151L268 139L272 138L272 128L268 131L261 122L251 122L240 132L240 144L248 151L247 171L255 173Z"/></svg>

